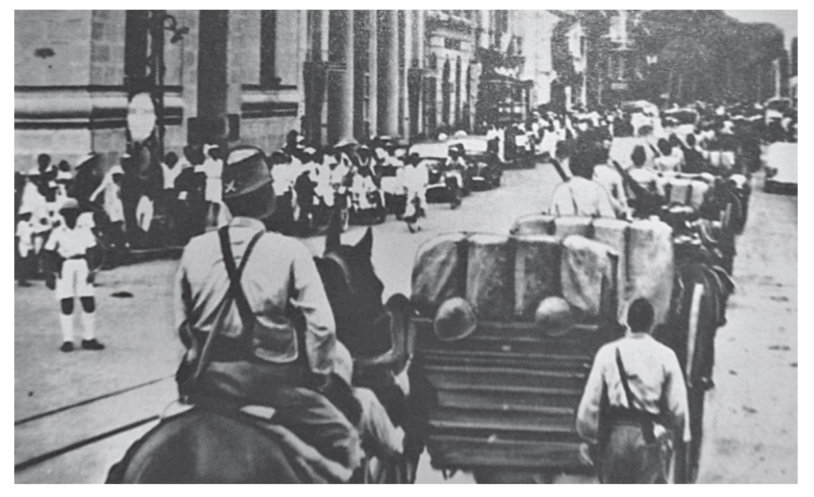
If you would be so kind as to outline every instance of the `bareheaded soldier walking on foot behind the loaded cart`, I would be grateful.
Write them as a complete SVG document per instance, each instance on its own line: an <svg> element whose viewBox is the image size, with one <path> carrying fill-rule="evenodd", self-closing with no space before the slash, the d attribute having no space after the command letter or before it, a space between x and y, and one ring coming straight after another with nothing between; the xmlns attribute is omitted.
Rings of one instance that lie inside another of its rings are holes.
<svg viewBox="0 0 814 497"><path fill-rule="evenodd" d="M628 333L597 352L576 415L602 483L666 483L672 437L689 442L687 390L675 353L649 334L653 306L633 301Z"/></svg>

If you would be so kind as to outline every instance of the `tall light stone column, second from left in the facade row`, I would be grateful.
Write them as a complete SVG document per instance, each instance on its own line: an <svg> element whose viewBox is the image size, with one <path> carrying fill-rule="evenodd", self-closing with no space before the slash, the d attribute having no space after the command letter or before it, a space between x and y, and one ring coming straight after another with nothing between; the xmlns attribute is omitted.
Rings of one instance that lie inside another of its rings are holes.
<svg viewBox="0 0 814 497"><path fill-rule="evenodd" d="M379 135L399 133L398 11L379 11Z"/></svg>

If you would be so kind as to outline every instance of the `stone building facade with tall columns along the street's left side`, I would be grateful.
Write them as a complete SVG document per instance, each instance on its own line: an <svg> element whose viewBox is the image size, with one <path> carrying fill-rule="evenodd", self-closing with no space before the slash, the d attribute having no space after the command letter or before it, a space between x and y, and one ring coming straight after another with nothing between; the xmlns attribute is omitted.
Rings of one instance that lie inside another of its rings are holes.
<svg viewBox="0 0 814 497"><path fill-rule="evenodd" d="M169 26L166 16L182 36L164 31L156 45L152 23ZM15 11L15 169L40 153L74 164L92 150L117 163L129 148L129 98L151 87L161 45L164 150L179 155L202 142L270 152L291 129L314 146L471 131L479 50L538 36L512 19L509 11ZM525 31L512 33L513 24ZM545 41L525 46L550 51ZM539 75L550 53L534 57Z"/></svg>

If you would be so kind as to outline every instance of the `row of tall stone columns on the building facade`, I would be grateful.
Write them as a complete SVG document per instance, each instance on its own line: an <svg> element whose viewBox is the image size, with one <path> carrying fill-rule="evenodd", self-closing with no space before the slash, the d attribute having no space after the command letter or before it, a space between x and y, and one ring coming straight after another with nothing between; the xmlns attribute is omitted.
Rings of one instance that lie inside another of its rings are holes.
<svg viewBox="0 0 814 497"><path fill-rule="evenodd" d="M354 105L354 98L363 97L356 85L364 85L355 77L354 28L355 16L365 16L368 39L361 44L368 50L368 76L370 89L367 116L362 122L370 123L370 132L378 135L409 135L409 68L414 56L418 67L423 64L423 12L405 11L404 71L400 70L399 50L400 11L323 11L323 18L330 16L328 25L328 75L327 75L327 138L329 143L354 137L362 130L354 127L354 111L363 106ZM323 26L324 28L324 26ZM415 40L415 41L414 41ZM418 53L416 53L418 52ZM400 121L400 116L404 116ZM419 115L420 116L420 115ZM359 123L357 116L357 123ZM366 119L365 119L366 118ZM420 118L420 117L419 117ZM356 131L357 133L354 133Z"/></svg>

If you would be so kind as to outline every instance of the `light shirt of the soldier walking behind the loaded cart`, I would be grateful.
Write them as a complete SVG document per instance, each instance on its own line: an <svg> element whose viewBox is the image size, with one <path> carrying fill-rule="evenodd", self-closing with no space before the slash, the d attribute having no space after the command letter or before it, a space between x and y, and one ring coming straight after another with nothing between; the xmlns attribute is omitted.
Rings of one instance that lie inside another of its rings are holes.
<svg viewBox="0 0 814 497"><path fill-rule="evenodd" d="M628 385L635 403L633 406L628 406L619 376L617 348L628 374ZM603 385L607 386L610 406L634 408L654 415L667 414L679 432L676 436L682 436L685 442L689 442L687 388L681 367L676 354L649 334L628 334L606 343L597 352L576 412L576 431L586 440L597 440ZM667 412L663 413L662 409Z"/></svg>

